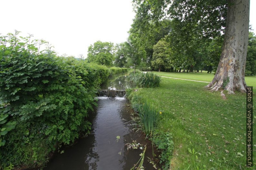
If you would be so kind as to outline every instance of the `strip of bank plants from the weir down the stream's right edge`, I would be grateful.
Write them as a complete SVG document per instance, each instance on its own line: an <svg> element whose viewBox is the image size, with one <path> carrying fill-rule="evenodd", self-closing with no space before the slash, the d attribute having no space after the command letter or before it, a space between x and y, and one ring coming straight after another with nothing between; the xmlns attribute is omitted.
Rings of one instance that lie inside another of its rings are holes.
<svg viewBox="0 0 256 170"><path fill-rule="evenodd" d="M172 134L168 132L168 130L163 130L163 127L169 128L162 123L162 114L164 113L156 112L149 104L143 103L145 99L138 95L133 89L126 89L126 96L133 110L139 112L139 120L137 123L140 125L143 132L151 137L153 144L160 151L160 163L163 163L162 168L167 170L170 166L174 143L172 141ZM159 126L162 128L159 129Z"/></svg>

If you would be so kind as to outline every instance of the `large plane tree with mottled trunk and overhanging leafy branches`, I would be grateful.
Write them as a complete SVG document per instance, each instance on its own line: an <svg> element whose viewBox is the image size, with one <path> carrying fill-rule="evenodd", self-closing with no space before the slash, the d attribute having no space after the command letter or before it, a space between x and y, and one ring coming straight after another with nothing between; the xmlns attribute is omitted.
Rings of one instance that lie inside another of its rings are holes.
<svg viewBox="0 0 256 170"><path fill-rule="evenodd" d="M172 27L182 44L224 35L222 54L216 74L207 85L212 91L224 88L229 93L245 92L245 61L249 31L250 0L133 0L142 20L160 21L171 18L178 23ZM143 11L143 12L141 12ZM189 50L189 49L188 49ZM223 82L229 79L228 83Z"/></svg>

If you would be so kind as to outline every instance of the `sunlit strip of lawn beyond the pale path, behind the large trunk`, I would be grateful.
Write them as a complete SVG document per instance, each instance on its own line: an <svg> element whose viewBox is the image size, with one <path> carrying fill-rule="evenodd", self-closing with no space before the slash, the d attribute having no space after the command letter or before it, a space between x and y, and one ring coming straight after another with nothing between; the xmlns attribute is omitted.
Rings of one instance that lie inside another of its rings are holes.
<svg viewBox="0 0 256 170"><path fill-rule="evenodd" d="M155 74L159 76L173 77L173 78L183 78L189 80L198 80L198 81L206 81L211 82L214 74L213 73L170 73L170 72L155 72ZM248 86L254 86L256 88L256 76L246 76L245 82Z"/></svg>

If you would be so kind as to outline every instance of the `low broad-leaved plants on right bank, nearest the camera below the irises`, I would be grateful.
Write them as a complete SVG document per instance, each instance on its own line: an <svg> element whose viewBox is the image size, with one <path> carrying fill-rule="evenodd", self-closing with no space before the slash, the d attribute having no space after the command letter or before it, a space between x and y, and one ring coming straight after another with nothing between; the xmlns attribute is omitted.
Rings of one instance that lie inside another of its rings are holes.
<svg viewBox="0 0 256 170"><path fill-rule="evenodd" d="M160 154L160 164L164 163L162 166L163 170L168 170L170 166L170 160L172 158L172 150L174 143L172 141L172 134L170 132L162 132L159 130L154 131L153 143L156 148L161 151Z"/></svg>

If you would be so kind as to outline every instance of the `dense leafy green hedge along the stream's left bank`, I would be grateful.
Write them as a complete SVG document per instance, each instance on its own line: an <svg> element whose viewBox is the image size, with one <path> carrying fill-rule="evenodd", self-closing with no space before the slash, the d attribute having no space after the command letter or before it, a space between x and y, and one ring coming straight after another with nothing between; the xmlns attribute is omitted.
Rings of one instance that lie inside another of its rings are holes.
<svg viewBox="0 0 256 170"><path fill-rule="evenodd" d="M41 166L56 147L88 134L88 111L112 74L105 66L39 52L17 34L0 37L0 169Z"/></svg>

